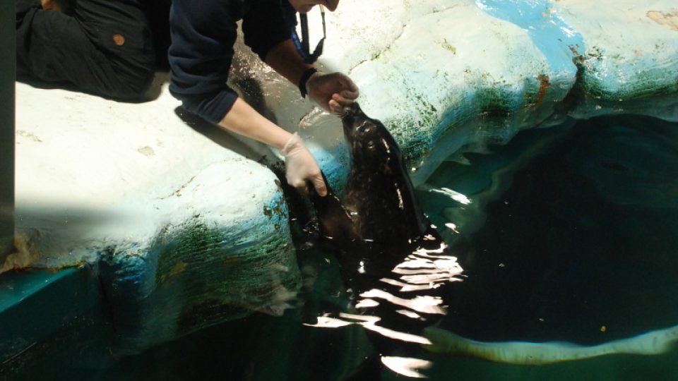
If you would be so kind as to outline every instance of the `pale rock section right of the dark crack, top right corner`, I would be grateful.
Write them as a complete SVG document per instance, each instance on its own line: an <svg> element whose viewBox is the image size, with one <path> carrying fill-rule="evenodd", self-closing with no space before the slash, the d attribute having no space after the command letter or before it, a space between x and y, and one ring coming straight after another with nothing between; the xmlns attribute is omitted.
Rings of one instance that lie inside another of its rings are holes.
<svg viewBox="0 0 678 381"><path fill-rule="evenodd" d="M585 92L619 101L678 90L678 4L673 1L554 2L553 11L583 36Z"/></svg>

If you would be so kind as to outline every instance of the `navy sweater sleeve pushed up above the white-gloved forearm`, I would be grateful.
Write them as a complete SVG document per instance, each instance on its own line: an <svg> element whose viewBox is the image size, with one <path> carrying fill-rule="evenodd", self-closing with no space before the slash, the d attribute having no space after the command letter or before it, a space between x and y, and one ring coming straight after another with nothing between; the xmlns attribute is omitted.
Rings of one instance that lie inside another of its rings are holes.
<svg viewBox="0 0 678 381"><path fill-rule="evenodd" d="M173 0L169 12L169 92L185 109L212 123L237 94L226 85L237 38L239 1Z"/></svg>

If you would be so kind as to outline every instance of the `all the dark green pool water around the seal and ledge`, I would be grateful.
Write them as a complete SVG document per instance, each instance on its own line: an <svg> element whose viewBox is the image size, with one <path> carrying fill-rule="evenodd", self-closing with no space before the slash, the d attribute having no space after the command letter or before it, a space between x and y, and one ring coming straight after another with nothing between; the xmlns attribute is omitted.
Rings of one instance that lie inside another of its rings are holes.
<svg viewBox="0 0 678 381"><path fill-rule="evenodd" d="M418 192L467 276L453 285L441 327L483 341L588 345L678 325L678 123L570 121L466 157L468 165L445 162L427 185L472 204ZM283 317L255 314L118 358L113 327L93 312L3 364L0 379L338 380L371 344L360 327L302 325L343 298L332 254L299 241L305 303ZM432 380L678 380L675 349L539 366L416 354L433 362L423 371Z"/></svg>

